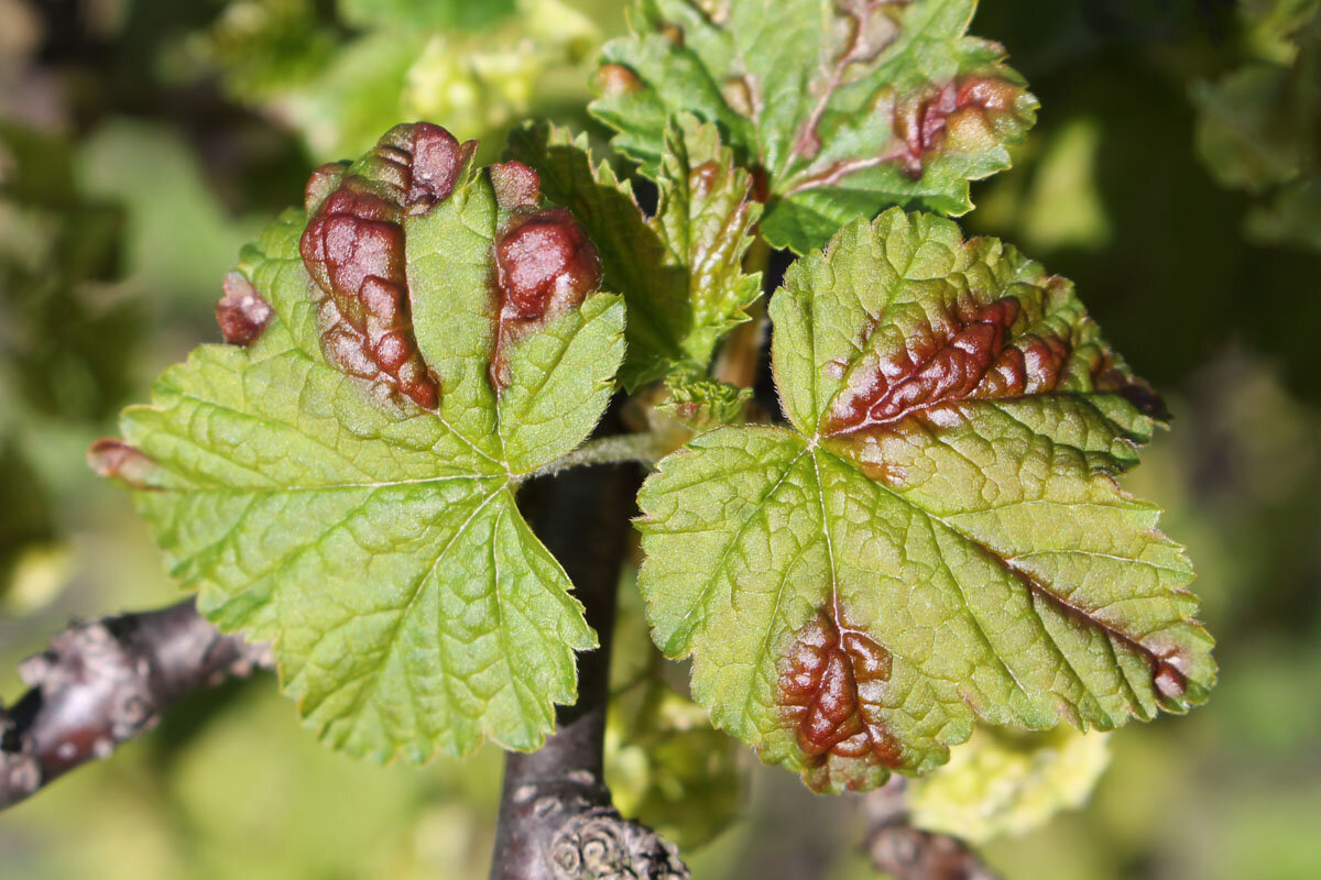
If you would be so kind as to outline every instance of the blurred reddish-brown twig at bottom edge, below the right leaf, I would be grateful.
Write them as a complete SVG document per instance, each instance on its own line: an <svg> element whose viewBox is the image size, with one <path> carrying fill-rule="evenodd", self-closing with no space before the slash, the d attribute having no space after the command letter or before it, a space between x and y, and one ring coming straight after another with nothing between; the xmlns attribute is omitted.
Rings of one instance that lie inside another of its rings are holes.
<svg viewBox="0 0 1321 880"><path fill-rule="evenodd" d="M876 869L897 880L997 880L978 854L956 838L922 831L909 822L908 782L890 777L867 796L867 852Z"/></svg>

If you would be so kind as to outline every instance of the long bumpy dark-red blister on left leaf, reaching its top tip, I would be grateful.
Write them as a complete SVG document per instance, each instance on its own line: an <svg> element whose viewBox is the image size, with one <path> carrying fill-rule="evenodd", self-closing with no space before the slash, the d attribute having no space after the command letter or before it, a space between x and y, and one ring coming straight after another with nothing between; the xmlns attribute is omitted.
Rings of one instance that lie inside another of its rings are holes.
<svg viewBox="0 0 1321 880"><path fill-rule="evenodd" d="M396 125L355 165L322 165L308 181L300 251L326 358L424 409L439 388L413 338L403 220L449 198L476 148L431 123Z"/></svg>

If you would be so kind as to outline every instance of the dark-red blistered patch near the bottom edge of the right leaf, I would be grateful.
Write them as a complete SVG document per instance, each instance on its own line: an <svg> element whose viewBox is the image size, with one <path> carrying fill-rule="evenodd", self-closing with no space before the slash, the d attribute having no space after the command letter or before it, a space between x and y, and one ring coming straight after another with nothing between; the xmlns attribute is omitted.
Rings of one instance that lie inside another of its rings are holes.
<svg viewBox="0 0 1321 880"><path fill-rule="evenodd" d="M834 755L902 764L898 739L877 720L890 665L885 648L861 632L841 632L824 612L798 631L781 661L777 699L812 761Z"/></svg>

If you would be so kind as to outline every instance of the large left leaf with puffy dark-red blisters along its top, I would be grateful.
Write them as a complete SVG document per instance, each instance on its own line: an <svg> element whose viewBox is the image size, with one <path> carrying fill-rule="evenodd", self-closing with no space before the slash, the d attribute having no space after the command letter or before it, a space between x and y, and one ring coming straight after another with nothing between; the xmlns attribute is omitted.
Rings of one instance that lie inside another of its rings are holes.
<svg viewBox="0 0 1321 880"><path fill-rule="evenodd" d="M604 410L624 303L588 293L571 216L505 198L535 175L470 154L420 123L321 169L240 260L255 340L197 350L92 451L209 619L272 640L309 724L375 759L536 748L594 644L514 491Z"/></svg>

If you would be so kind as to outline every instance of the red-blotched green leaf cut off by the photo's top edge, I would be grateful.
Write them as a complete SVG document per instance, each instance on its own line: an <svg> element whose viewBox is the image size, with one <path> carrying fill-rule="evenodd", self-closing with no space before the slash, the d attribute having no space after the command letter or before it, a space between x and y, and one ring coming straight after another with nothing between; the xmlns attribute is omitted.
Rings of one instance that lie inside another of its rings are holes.
<svg viewBox="0 0 1321 880"><path fill-rule="evenodd" d="M762 178L773 247L804 253L892 204L963 214L1037 107L999 45L964 36L975 7L639 0L590 110L649 175L670 116L717 123Z"/></svg>

